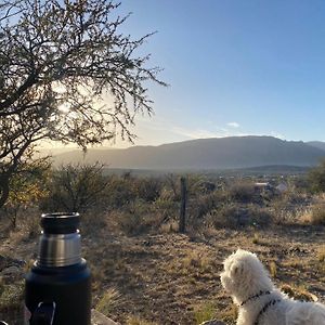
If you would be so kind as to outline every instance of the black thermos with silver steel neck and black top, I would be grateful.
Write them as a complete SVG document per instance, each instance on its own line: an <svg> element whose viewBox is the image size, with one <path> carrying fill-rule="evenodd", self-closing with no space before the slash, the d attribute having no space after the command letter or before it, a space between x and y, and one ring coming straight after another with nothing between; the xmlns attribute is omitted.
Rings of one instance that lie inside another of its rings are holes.
<svg viewBox="0 0 325 325"><path fill-rule="evenodd" d="M42 214L38 258L25 282L25 324L91 324L90 271L78 225L78 213Z"/></svg>

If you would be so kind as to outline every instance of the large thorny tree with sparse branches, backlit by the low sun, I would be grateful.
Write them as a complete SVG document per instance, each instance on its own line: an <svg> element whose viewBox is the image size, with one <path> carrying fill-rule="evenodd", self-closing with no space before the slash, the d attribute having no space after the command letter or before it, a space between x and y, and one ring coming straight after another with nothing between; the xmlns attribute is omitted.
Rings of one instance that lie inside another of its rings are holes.
<svg viewBox="0 0 325 325"><path fill-rule="evenodd" d="M11 177L43 139L88 145L132 141L138 113L152 114L147 81L158 67L119 32L128 16L107 0L0 3L0 207ZM27 155L27 156L28 156Z"/></svg>

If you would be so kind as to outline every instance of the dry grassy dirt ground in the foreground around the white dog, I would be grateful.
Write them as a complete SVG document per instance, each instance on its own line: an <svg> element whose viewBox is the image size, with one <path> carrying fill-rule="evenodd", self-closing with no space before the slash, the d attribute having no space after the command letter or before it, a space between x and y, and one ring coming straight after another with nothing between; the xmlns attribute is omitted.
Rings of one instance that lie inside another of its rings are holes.
<svg viewBox="0 0 325 325"><path fill-rule="evenodd" d="M82 237L82 249L93 276L93 307L121 324L190 325L211 317L233 324L236 311L219 280L231 252L256 252L277 286L325 302L324 237L325 226L134 237L102 229ZM15 234L1 239L0 255L30 264L37 242Z"/></svg>

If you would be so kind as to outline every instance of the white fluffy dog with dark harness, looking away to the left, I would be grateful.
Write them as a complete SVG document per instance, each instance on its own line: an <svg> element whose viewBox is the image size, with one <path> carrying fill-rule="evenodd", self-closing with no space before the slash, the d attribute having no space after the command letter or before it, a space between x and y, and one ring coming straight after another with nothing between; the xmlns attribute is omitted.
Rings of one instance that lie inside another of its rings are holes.
<svg viewBox="0 0 325 325"><path fill-rule="evenodd" d="M239 308L237 325L325 325L325 306L282 294L255 253L238 249L223 264L221 283Z"/></svg>

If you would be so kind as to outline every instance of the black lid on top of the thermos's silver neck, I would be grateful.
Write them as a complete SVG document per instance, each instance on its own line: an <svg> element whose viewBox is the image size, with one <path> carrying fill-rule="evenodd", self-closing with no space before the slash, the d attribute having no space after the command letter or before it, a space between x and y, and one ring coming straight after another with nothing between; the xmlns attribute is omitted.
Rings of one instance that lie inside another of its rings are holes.
<svg viewBox="0 0 325 325"><path fill-rule="evenodd" d="M72 234L77 232L80 217L77 212L55 212L41 216L41 226L46 234Z"/></svg>

